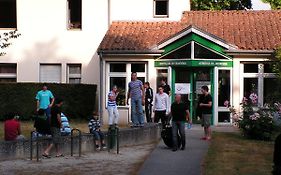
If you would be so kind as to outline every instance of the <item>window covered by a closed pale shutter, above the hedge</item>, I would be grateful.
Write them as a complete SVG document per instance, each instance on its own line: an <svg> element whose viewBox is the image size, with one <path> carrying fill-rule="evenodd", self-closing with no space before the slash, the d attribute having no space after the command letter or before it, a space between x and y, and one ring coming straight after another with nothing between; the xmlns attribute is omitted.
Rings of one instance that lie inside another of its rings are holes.
<svg viewBox="0 0 281 175"><path fill-rule="evenodd" d="M60 83L61 82L61 65L60 64L41 64L40 65L40 82Z"/></svg>

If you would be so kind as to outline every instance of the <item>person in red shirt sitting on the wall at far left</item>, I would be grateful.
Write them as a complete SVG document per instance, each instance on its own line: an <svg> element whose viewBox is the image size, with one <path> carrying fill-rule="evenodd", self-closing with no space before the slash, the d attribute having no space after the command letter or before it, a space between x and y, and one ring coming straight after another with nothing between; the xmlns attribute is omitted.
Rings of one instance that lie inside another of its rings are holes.
<svg viewBox="0 0 281 175"><path fill-rule="evenodd" d="M21 135L19 116L8 114L7 120L4 122L5 140L24 140L25 137Z"/></svg>

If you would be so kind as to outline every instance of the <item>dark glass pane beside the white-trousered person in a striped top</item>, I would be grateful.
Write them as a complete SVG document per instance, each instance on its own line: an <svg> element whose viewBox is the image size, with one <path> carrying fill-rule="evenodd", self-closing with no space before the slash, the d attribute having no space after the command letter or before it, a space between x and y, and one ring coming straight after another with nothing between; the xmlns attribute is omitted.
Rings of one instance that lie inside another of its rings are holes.
<svg viewBox="0 0 281 175"><path fill-rule="evenodd" d="M126 105L126 77L110 77L110 90L116 85L118 88L118 96L116 98L116 103L118 106Z"/></svg>

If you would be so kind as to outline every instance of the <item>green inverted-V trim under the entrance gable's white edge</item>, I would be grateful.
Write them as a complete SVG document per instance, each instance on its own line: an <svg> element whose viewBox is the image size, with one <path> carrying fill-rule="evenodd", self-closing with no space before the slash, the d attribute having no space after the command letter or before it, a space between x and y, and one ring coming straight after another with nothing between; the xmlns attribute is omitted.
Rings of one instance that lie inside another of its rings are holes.
<svg viewBox="0 0 281 175"><path fill-rule="evenodd" d="M197 34L191 33L187 36L184 36L180 39L178 39L177 41L167 45L166 47L164 47L164 53L162 54L161 57L163 57L164 55L170 54L171 52L177 50L178 48L188 44L191 41L195 41L199 44L201 44L202 46L214 51L215 53L218 52L228 58L231 58L229 55L227 55L224 52L224 48L217 45L216 43L213 43Z"/></svg>

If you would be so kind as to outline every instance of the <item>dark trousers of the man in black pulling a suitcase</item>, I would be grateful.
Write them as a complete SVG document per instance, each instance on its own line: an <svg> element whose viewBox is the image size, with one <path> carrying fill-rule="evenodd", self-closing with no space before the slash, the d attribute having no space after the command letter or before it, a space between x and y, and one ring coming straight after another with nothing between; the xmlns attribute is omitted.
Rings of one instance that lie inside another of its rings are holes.
<svg viewBox="0 0 281 175"><path fill-rule="evenodd" d="M173 147L176 149L180 147L180 145L178 145L178 133L180 134L181 147L185 148L184 127L184 121L172 121Z"/></svg>

